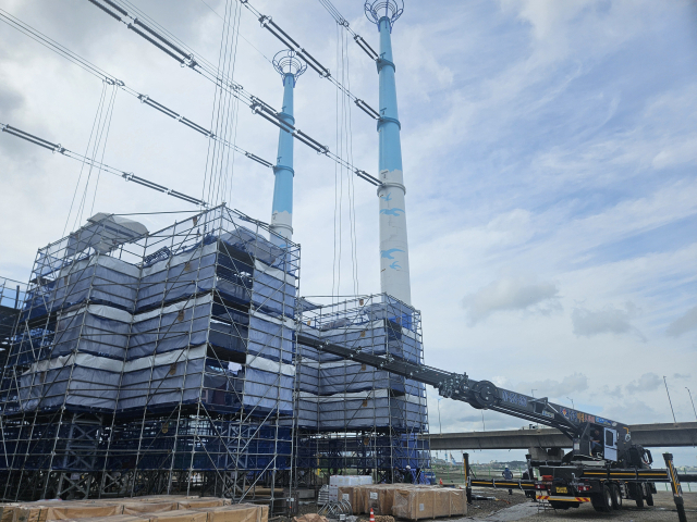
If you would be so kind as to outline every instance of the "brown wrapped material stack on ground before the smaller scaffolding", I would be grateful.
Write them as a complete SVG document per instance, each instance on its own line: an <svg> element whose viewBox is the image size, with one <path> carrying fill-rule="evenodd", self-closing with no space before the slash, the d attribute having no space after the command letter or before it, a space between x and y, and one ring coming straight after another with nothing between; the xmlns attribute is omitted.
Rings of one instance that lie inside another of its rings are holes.
<svg viewBox="0 0 697 522"><path fill-rule="evenodd" d="M400 519L421 520L467 514L464 489L413 484L371 484L340 486L342 500L351 504L354 514L391 514Z"/></svg>

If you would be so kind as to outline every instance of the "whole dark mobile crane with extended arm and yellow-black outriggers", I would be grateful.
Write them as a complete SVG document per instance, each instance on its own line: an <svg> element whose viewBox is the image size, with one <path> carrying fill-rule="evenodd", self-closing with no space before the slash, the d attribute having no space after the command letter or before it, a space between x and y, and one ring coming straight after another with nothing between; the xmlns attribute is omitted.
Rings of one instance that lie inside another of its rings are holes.
<svg viewBox="0 0 697 522"><path fill-rule="evenodd" d="M466 373L453 373L405 361L390 353L362 351L308 337L302 333L297 341L317 350L386 370L438 388L440 396L467 402L473 408L493 410L526 421L555 427L572 440L572 451L560 461L528 461L538 468L539 481L477 481L467 486L519 487L535 490L538 499L548 500L555 509L579 507L591 502L597 511L620 509L622 499L633 499L638 507L653 505L656 483L670 483L681 522L685 519L682 488L672 456L664 453L667 469L651 469L651 452L632 442L626 424L592 415L547 398L535 398L498 387L490 381L474 381ZM694 477L687 477L693 480Z"/></svg>

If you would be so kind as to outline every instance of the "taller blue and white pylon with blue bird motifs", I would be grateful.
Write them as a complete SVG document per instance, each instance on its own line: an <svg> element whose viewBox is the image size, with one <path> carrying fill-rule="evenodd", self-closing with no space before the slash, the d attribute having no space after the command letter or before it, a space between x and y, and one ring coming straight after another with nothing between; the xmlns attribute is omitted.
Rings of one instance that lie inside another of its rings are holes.
<svg viewBox="0 0 697 522"><path fill-rule="evenodd" d="M402 144L396 110L394 61L392 59L392 26L404 10L402 0L366 1L365 12L380 33L380 57L377 60L380 78L379 172L380 198L380 287L382 293L412 303L409 253L406 237L406 207L402 173Z"/></svg>

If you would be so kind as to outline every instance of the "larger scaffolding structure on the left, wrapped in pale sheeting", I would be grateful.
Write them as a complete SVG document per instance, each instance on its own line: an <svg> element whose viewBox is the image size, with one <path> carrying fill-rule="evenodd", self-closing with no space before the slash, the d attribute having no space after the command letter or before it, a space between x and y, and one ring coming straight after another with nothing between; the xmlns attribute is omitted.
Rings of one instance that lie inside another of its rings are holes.
<svg viewBox="0 0 697 522"><path fill-rule="evenodd" d="M2 499L273 508L292 482L299 247L269 234L225 206L156 233L100 213L40 249L0 383Z"/></svg>

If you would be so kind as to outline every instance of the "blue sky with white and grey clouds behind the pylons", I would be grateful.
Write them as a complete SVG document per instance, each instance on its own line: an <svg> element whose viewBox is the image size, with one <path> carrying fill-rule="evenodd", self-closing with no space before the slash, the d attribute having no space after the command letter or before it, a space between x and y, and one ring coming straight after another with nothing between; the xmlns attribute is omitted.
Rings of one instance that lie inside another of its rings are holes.
<svg viewBox="0 0 697 522"><path fill-rule="evenodd" d="M225 1L131 2L218 63ZM333 3L377 49L363 2ZM697 394L697 4L405 3L392 39L426 362L628 424L672 422L665 376L675 419L696 420L686 388ZM320 2L252 4L377 108L375 64L353 41L340 44ZM0 9L210 126L213 85L89 2L0 0ZM282 85L269 59L282 49L241 10L234 79L277 109ZM84 153L101 92L99 79L0 23L1 123ZM339 125L341 99L309 70L295 88L296 125L332 151L339 135L350 145L342 157L377 175L375 121L354 107L351 125ZM236 128L237 146L274 160L277 127L242 107ZM103 154L121 171L206 194L207 139L121 90ZM223 171L221 198L270 221L272 172L244 157ZM194 210L102 173L81 217L85 178L80 162L0 134L0 276L27 281L37 248L91 211ZM296 142L305 296L380 291L378 198L351 183ZM154 231L173 215L137 219ZM433 390L429 412L435 433L525 425L491 411L482 422L467 405L439 405ZM678 465L697 465L697 449L673 452ZM523 455L475 452L473 461Z"/></svg>

